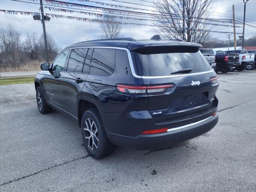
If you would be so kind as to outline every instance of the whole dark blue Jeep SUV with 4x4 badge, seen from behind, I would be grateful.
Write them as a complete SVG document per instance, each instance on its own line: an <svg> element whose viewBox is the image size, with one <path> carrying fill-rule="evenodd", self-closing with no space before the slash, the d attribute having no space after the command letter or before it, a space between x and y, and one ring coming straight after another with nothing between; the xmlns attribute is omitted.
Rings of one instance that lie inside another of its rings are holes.
<svg viewBox="0 0 256 192"><path fill-rule="evenodd" d="M91 156L114 145L149 150L204 134L218 122L217 76L180 40L92 40L66 47L35 78L41 113L78 120Z"/></svg>

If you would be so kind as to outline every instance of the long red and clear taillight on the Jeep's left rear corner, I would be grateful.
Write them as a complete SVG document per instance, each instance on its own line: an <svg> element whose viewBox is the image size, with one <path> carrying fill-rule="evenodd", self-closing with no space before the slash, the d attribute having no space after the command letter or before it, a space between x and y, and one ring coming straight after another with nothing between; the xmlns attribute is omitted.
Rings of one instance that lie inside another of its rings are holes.
<svg viewBox="0 0 256 192"><path fill-rule="evenodd" d="M154 86L130 86L117 84L116 89L120 93L125 94L154 94L162 93L167 90L167 88L173 87L174 85L154 85Z"/></svg>

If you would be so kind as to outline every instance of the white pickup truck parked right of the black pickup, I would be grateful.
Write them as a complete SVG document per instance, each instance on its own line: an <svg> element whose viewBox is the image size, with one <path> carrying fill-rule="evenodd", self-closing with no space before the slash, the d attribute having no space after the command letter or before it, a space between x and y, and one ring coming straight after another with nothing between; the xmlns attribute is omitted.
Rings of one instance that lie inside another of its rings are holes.
<svg viewBox="0 0 256 192"><path fill-rule="evenodd" d="M247 50L233 50L233 51L227 51L227 54L239 54L239 62L240 65L236 66L236 70L242 71L244 70L248 65L254 65L254 54L249 53Z"/></svg>

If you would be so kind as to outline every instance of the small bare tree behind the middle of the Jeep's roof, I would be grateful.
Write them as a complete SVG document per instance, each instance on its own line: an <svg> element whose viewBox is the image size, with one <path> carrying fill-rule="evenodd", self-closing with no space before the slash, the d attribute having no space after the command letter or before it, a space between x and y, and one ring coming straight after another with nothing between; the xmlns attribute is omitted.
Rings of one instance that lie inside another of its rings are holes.
<svg viewBox="0 0 256 192"><path fill-rule="evenodd" d="M121 34L122 26L113 17L105 17L103 22L100 23L100 28L102 29L102 38L119 38L123 35Z"/></svg>

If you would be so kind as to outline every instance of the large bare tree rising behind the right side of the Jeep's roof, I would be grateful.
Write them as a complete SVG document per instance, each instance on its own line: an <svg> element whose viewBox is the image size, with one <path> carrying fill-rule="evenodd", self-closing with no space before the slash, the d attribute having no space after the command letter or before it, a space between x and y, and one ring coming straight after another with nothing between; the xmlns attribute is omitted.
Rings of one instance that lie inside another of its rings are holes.
<svg viewBox="0 0 256 192"><path fill-rule="evenodd" d="M156 10L161 16L156 17L154 24L158 26L158 32L164 39L183 39L182 15L183 0L161 0L154 2ZM213 0L184 0L185 5L185 41L202 43L211 37L212 26L206 24L209 10L214 5Z"/></svg>

